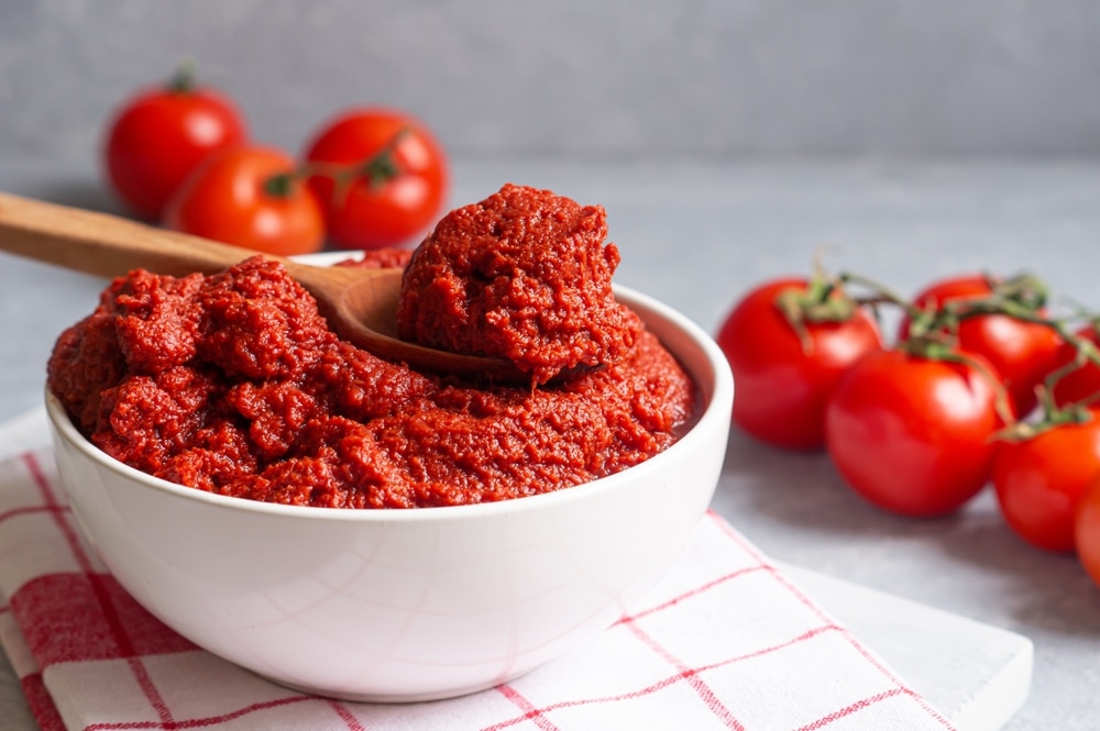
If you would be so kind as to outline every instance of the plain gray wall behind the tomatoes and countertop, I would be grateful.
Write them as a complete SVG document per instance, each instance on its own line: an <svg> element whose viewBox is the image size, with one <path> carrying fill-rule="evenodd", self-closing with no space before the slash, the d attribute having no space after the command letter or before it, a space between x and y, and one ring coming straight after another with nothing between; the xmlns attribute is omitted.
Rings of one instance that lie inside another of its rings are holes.
<svg viewBox="0 0 1100 731"><path fill-rule="evenodd" d="M90 169L185 55L292 151L377 102L457 156L1100 153L1092 0L0 0L0 165Z"/></svg>

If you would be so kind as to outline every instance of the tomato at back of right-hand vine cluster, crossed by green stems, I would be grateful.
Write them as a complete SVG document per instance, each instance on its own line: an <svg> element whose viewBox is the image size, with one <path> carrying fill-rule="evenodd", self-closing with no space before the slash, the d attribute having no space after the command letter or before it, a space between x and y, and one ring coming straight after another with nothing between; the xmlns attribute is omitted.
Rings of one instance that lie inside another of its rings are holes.
<svg viewBox="0 0 1100 731"><path fill-rule="evenodd" d="M979 299L991 292L982 275L953 277L933 284L913 300L919 308L950 300ZM900 336L909 331L903 321ZM1050 372L1062 339L1053 329L1003 314L982 314L959 323L958 347L985 357L1001 377L1014 410L1026 416L1037 402L1035 387Z"/></svg>

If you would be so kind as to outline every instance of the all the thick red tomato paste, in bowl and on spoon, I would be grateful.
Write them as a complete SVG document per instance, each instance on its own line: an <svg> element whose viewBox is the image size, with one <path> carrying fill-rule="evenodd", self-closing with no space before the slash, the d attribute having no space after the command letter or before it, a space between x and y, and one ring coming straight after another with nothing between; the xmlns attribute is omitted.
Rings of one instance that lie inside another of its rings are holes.
<svg viewBox="0 0 1100 731"><path fill-rule="evenodd" d="M414 508L574 486L667 448L694 403L676 361L614 301L605 234L598 207L506 186L446 217L408 264L403 326L510 357L539 385L382 361L256 256L116 279L58 339L48 386L111 456L221 495Z"/></svg>

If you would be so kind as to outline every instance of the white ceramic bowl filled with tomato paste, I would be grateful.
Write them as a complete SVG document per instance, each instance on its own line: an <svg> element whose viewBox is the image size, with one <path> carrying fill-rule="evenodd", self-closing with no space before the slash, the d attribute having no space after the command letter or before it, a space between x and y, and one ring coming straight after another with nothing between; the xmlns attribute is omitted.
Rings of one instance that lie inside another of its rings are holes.
<svg viewBox="0 0 1100 731"><path fill-rule="evenodd" d="M734 388L722 352L668 307L617 292L702 396L690 432L617 475L486 505L267 505L130 468L84 439L47 395L73 512L141 605L276 683L413 701L507 682L629 611L706 510L725 456Z"/></svg>

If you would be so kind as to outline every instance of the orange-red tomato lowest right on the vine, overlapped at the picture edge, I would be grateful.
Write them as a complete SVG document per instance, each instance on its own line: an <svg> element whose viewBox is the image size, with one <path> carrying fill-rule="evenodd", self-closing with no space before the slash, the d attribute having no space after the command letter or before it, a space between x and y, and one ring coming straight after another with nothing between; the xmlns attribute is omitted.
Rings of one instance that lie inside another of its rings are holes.
<svg viewBox="0 0 1100 731"><path fill-rule="evenodd" d="M1001 513L1020 538L1047 551L1072 551L1074 511L1100 473L1100 419L1058 424L1003 442L993 463Z"/></svg>

